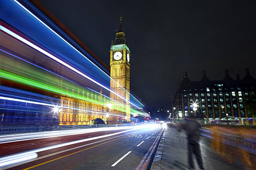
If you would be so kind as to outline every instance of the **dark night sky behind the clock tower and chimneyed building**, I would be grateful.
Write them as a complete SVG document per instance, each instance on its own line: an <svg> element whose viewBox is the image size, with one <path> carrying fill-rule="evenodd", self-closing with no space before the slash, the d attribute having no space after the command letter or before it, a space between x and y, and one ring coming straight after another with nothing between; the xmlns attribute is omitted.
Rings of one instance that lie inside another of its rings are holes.
<svg viewBox="0 0 256 170"><path fill-rule="evenodd" d="M149 107L169 107L178 72L200 80L256 77L256 1L40 0L106 65L123 16L131 90Z"/></svg>

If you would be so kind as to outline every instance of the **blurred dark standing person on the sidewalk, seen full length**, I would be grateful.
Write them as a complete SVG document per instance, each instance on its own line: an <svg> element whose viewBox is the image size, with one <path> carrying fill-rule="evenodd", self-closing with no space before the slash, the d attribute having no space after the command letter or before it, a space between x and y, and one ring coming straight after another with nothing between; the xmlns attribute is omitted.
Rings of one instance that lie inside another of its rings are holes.
<svg viewBox="0 0 256 170"><path fill-rule="evenodd" d="M188 161L189 161L189 169L194 169L193 164L193 157L194 154L197 163L201 170L204 170L203 162L202 162L202 155L199 145L200 140L200 124L195 120L195 115L190 114L187 118L187 123L183 125L183 129L187 133L187 142L188 142Z"/></svg>

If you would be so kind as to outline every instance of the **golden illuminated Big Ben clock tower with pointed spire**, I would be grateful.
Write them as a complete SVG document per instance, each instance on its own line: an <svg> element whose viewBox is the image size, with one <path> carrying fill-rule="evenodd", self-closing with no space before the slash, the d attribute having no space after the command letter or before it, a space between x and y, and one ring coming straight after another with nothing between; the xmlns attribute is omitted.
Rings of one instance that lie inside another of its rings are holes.
<svg viewBox="0 0 256 170"><path fill-rule="evenodd" d="M115 33L115 41L112 42L110 48L110 89L124 99L110 93L110 98L119 102L118 109L113 113L124 115L126 121L130 121L130 50L125 44L125 33L123 32L122 17L120 17L120 25ZM115 116L114 121L117 121Z"/></svg>

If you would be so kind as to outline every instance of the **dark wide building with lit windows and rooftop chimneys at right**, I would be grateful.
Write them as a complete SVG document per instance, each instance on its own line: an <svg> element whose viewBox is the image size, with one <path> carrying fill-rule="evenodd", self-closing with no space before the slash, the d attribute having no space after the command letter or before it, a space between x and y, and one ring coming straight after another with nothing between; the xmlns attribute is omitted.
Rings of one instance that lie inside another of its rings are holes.
<svg viewBox="0 0 256 170"><path fill-rule="evenodd" d="M225 70L223 80L209 80L203 71L201 81L190 81L187 72L184 72L173 100L173 117L184 120L189 112L194 112L193 103L197 103L197 118L204 118L207 123L209 119L223 119L228 114L227 117L239 119L242 124L254 125L255 119L246 110L244 101L246 97L255 95L253 88L256 87L256 80L249 74L248 68L245 70L246 76L240 79L236 75L236 80L229 76L228 70Z"/></svg>

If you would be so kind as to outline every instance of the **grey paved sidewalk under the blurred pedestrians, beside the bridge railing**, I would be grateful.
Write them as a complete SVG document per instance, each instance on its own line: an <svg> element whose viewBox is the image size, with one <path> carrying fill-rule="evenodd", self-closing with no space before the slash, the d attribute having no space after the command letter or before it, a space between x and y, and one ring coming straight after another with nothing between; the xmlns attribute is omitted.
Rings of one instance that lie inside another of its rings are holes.
<svg viewBox="0 0 256 170"><path fill-rule="evenodd" d="M221 159L218 153L211 148L212 140L201 137L200 148L205 170L241 170L244 168L243 163L237 158L232 157L232 152L236 152L236 148L226 148L224 158ZM231 150L231 155L228 152ZM151 170L187 170L187 139L183 132L177 132L175 128L167 127L161 138L159 148L156 152ZM228 163L230 162L230 163ZM199 169L194 157L195 170ZM250 169L251 170L251 169Z"/></svg>

